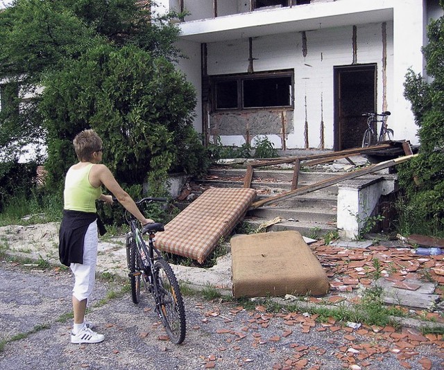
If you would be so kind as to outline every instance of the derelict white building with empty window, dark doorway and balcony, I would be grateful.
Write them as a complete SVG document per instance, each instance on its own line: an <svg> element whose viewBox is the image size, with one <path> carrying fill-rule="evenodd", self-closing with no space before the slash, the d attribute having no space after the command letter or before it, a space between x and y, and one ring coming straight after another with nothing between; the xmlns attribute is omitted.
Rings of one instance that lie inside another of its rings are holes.
<svg viewBox="0 0 444 370"><path fill-rule="evenodd" d="M394 139L418 142L403 84L425 76L438 0L157 0L168 9L188 14L178 67L207 141L345 150L361 146L364 112L389 110Z"/></svg>

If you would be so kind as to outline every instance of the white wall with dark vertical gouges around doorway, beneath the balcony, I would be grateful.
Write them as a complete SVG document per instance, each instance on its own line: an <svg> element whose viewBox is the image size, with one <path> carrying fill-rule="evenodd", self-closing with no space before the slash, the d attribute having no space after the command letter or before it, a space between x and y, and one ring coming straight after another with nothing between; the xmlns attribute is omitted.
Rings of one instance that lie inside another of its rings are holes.
<svg viewBox="0 0 444 370"><path fill-rule="evenodd" d="M391 73L393 70L393 25L387 24L388 82L387 99L393 100ZM333 147L334 66L350 65L353 61L352 26L308 31L307 55L302 55L302 33L268 35L253 39L254 70L294 69L295 107L293 130L287 148L304 147L305 109L309 123L309 147L321 145L321 120L325 125L325 147ZM246 73L248 69L248 39L207 44L209 75ZM377 109L382 110L382 24L357 26L357 62L377 64ZM390 109L388 105L387 109ZM394 120L393 120L394 121ZM393 122L394 124L395 122ZM391 125L391 122L389 122ZM393 127L396 132L396 127Z"/></svg>

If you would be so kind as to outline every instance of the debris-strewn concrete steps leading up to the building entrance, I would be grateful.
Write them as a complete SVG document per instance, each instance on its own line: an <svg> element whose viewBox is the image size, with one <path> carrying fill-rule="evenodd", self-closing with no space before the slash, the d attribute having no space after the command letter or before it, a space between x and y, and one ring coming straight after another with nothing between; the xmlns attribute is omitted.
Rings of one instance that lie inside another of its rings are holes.
<svg viewBox="0 0 444 370"><path fill-rule="evenodd" d="M314 184L338 174L338 170L335 170L335 173L301 171L298 187ZM196 182L196 185L200 189L210 186L241 188L244 186L245 175L246 168L217 166L209 171L205 179ZM292 170L255 169L251 187L257 190L256 200L289 191L292 177ZM279 217L281 221L266 227L267 231L297 230L303 236L316 238L336 230L337 193L337 186L330 186L314 193L251 209L244 222L258 229L264 222Z"/></svg>

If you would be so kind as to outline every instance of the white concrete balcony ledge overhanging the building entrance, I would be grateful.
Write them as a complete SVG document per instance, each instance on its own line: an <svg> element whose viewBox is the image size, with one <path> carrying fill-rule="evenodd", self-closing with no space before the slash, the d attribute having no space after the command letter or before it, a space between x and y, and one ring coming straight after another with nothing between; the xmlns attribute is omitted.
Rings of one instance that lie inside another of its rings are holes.
<svg viewBox="0 0 444 370"><path fill-rule="evenodd" d="M176 10L180 9L178 6L192 7L188 9L191 16L180 24L180 37L194 42L221 42L393 20L391 1L384 0L311 0L296 6L282 6L282 1L278 1L274 6L254 8L257 1L170 0L170 7Z"/></svg>

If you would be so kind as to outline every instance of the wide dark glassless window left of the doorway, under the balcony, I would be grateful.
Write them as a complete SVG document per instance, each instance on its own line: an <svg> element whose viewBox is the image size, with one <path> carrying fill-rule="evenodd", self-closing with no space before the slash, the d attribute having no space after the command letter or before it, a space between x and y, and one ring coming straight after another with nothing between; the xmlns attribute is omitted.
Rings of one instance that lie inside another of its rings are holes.
<svg viewBox="0 0 444 370"><path fill-rule="evenodd" d="M293 71L215 76L213 85L216 110L293 106Z"/></svg>

